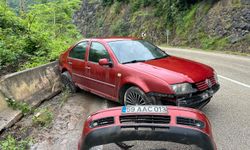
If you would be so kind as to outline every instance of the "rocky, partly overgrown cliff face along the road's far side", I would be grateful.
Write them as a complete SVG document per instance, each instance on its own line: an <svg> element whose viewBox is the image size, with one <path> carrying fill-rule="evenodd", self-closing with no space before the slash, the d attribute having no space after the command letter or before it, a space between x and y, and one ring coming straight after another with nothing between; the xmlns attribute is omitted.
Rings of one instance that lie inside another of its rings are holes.
<svg viewBox="0 0 250 150"><path fill-rule="evenodd" d="M200 3L187 35L178 34L177 29L182 26L174 25L170 30L169 43L204 48L200 38L202 32L208 40L225 39L226 44L221 44L219 48L215 46L218 50L250 53L250 0L215 1L208 11L204 11L202 5L206 3L207 1ZM131 12L131 5L123 3L118 9L119 13L114 13L116 9L115 4L103 6L101 0L83 0L82 7L75 13L73 21L84 37L138 37L143 34L147 40L154 43L167 43L168 29L160 16L153 15L154 8L140 8L137 12Z"/></svg>

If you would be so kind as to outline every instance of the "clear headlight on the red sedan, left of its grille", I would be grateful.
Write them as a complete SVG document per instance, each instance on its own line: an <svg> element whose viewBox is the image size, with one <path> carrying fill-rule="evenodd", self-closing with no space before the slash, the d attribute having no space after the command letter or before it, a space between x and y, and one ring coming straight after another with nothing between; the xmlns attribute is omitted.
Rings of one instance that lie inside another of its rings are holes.
<svg viewBox="0 0 250 150"><path fill-rule="evenodd" d="M193 88L190 83L179 83L179 84L173 84L171 85L173 91L177 94L189 94L194 93L197 91L197 89Z"/></svg>

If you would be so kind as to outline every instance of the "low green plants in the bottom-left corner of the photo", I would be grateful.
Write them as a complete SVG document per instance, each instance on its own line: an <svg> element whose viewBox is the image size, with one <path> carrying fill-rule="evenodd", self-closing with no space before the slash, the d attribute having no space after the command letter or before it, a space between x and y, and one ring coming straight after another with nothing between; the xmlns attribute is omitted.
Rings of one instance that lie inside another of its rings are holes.
<svg viewBox="0 0 250 150"><path fill-rule="evenodd" d="M26 150L32 144L31 138L17 141L13 136L8 135L4 140L0 141L1 150Z"/></svg>

